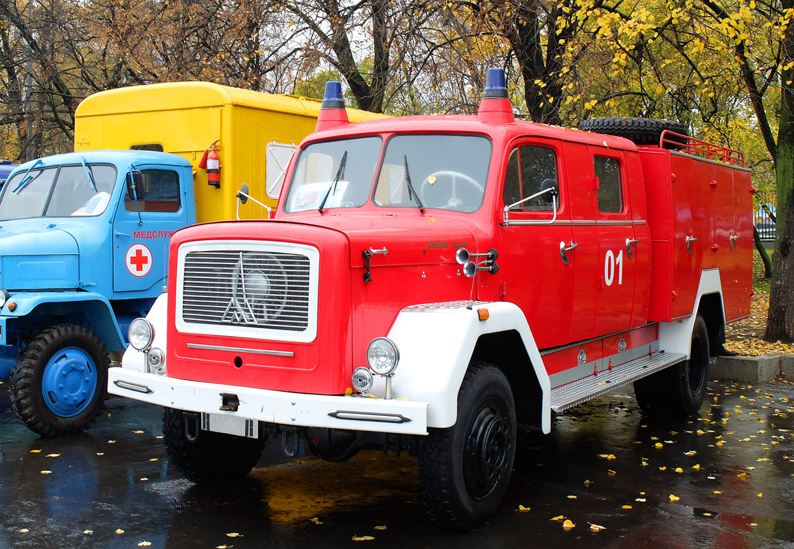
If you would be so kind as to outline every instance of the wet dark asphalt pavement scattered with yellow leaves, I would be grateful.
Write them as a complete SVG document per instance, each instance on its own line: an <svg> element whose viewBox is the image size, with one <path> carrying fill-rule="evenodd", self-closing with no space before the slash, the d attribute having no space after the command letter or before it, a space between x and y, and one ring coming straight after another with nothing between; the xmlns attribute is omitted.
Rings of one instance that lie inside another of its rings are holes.
<svg viewBox="0 0 794 549"><path fill-rule="evenodd" d="M643 418L628 387L522 435L499 514L460 534L426 518L409 454L271 441L243 485L206 489L168 466L160 408L114 397L90 431L41 439L0 385L0 549L794 547L794 385L710 389L693 418Z"/></svg>

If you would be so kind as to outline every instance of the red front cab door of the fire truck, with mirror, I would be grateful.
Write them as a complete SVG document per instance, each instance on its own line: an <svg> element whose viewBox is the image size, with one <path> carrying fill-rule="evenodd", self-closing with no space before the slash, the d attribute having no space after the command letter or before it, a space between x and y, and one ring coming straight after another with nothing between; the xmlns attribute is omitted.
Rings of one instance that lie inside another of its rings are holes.
<svg viewBox="0 0 794 549"><path fill-rule="evenodd" d="M571 330L576 250L561 254L573 236L562 150L557 141L526 138L511 144L504 159L502 298L521 307L540 348L564 345ZM557 196L530 198L544 182Z"/></svg>

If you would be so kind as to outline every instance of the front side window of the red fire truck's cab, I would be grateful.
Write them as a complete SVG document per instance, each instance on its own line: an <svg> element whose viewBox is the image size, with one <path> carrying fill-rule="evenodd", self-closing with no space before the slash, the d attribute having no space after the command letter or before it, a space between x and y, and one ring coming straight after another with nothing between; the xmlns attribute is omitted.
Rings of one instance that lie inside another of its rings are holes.
<svg viewBox="0 0 794 549"><path fill-rule="evenodd" d="M544 181L546 186L553 183L558 187L557 180L557 154L549 147L539 145L520 145L512 150L507 160L507 173L505 174L503 199L504 205L510 206L528 196L542 190ZM543 187L546 188L546 187ZM513 211L552 211L553 205L550 193L536 196L525 203L512 207ZM560 207L560 198L557 197L557 209Z"/></svg>

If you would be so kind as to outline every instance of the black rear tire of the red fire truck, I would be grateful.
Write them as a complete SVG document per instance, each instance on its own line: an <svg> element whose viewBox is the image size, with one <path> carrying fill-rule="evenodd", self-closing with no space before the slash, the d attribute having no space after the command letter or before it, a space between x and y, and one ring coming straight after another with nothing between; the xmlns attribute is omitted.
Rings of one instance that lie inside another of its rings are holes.
<svg viewBox="0 0 794 549"><path fill-rule="evenodd" d="M697 315L690 358L634 381L637 404L649 416L692 416L703 404L708 385L709 347L706 321Z"/></svg>

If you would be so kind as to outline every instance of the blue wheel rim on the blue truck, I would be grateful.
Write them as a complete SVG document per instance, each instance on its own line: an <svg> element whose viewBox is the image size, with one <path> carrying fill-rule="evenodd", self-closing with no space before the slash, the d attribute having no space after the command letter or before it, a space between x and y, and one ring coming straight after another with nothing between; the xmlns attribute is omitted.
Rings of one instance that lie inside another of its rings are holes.
<svg viewBox="0 0 794 549"><path fill-rule="evenodd" d="M72 417L83 412L97 389L96 365L79 347L56 352L44 367L41 393L56 416Z"/></svg>

